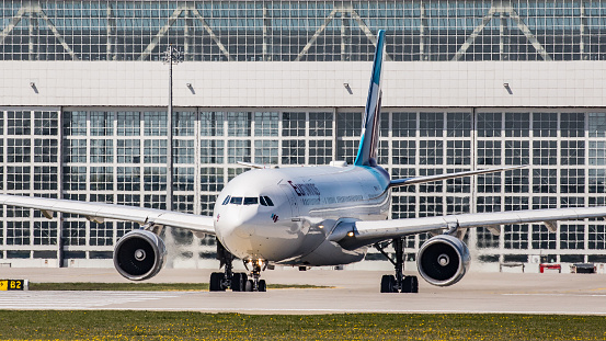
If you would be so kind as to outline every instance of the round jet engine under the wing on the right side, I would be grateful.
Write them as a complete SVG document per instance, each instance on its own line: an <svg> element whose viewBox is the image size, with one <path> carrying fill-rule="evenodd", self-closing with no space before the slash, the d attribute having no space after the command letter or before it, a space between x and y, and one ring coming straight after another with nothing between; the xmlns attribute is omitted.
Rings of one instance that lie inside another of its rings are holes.
<svg viewBox="0 0 606 341"><path fill-rule="evenodd" d="M448 286L459 282L469 268L469 249L458 238L441 235L419 250L419 274L430 284Z"/></svg>

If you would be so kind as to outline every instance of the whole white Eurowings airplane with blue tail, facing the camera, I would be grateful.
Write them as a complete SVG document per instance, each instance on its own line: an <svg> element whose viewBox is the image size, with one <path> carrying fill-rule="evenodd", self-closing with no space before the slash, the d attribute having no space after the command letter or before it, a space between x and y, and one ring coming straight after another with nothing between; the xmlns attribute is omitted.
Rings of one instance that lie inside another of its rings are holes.
<svg viewBox="0 0 606 341"><path fill-rule="evenodd" d="M0 195L0 204L39 209L48 219L60 212L85 216L95 223L104 219L138 223L140 229L123 236L113 255L117 272L133 281L150 279L162 269L167 247L160 234L164 226L187 229L198 236L216 236L217 259L224 271L210 275L213 292L228 288L265 292L261 273L267 268L351 264L362 261L368 248L375 247L395 268L393 274L381 277L380 292L416 293L418 277L403 273L407 236L433 235L416 255L419 274L430 284L448 286L459 282L468 271L470 254L462 239L469 228L487 227L499 234L500 225L544 223L556 231L558 220L606 216L606 207L574 207L388 219L395 187L525 166L391 179L377 164L385 55L385 31L380 30L362 137L352 166L333 161L323 167L277 168L241 162L252 170L224 187L213 216L15 195ZM393 257L386 251L389 243ZM236 259L243 261L249 274L233 272Z"/></svg>

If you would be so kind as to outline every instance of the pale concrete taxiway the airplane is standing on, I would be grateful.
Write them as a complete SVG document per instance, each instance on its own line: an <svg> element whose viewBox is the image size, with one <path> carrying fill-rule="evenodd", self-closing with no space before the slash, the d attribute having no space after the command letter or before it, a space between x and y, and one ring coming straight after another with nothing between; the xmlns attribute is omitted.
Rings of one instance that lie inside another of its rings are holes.
<svg viewBox="0 0 606 341"><path fill-rule="evenodd" d="M152 282L203 283L209 270L164 269ZM267 283L331 288L209 292L1 292L0 309L192 310L241 314L495 312L606 315L606 275L469 273L450 287L420 280L419 294L380 294L384 272L266 271ZM0 269L31 282L126 282L113 269Z"/></svg>

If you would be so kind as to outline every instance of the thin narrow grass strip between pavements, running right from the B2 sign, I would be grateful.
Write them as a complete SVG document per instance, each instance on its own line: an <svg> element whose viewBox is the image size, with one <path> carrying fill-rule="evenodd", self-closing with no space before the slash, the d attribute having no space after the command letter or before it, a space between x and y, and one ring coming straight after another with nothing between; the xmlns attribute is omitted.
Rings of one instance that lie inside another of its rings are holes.
<svg viewBox="0 0 606 341"><path fill-rule="evenodd" d="M268 284L272 288L320 288L305 284ZM30 283L31 291L111 291L111 292L199 292L208 291L208 283Z"/></svg>

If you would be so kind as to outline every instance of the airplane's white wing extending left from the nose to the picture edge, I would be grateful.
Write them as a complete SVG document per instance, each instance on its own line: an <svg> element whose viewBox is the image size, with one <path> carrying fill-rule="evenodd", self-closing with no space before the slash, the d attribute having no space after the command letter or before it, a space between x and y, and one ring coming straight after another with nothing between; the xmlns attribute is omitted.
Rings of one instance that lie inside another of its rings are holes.
<svg viewBox="0 0 606 341"><path fill-rule="evenodd" d="M39 209L49 219L53 218L53 213L61 212L81 215L95 223L102 223L104 219L114 219L134 221L139 225L150 224L179 227L215 235L213 217L172 211L5 194L0 194L0 205Z"/></svg>

